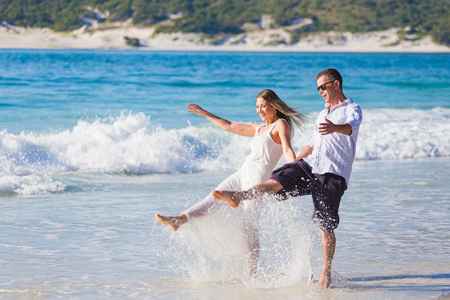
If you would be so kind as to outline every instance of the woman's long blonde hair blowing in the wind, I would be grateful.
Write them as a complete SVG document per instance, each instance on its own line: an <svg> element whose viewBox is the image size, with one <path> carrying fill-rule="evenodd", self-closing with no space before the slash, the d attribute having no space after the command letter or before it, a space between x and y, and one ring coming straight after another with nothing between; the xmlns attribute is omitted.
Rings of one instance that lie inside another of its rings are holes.
<svg viewBox="0 0 450 300"><path fill-rule="evenodd" d="M283 118L286 120L287 124L289 125L291 138L294 135L293 123L295 123L300 128L300 130L303 131L302 128L304 128L304 121L307 117L298 112L298 108L289 107L283 100L278 97L278 95L273 90L268 88L263 89L258 93L256 99L257 98L264 99L267 103L270 104L270 106L275 108L276 116L278 118Z"/></svg>

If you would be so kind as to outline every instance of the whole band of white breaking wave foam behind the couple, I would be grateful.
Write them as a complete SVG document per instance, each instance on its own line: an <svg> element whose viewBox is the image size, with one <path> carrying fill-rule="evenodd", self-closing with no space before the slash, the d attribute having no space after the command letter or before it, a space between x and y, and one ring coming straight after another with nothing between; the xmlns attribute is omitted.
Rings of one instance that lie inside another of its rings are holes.
<svg viewBox="0 0 450 300"><path fill-rule="evenodd" d="M317 113L309 117L314 120ZM300 151L313 121L292 140ZM450 155L450 109L363 111L356 159L401 159ZM213 125L164 129L144 113L77 124L59 132L0 131L0 193L61 191L50 176L93 173L170 173L236 169L249 152L249 139ZM282 161L281 161L282 162Z"/></svg>

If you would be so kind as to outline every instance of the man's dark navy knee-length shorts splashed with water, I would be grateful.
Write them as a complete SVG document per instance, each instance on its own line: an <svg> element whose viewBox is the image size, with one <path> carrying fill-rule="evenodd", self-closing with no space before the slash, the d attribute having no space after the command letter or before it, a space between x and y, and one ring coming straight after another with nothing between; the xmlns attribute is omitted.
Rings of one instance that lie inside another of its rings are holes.
<svg viewBox="0 0 450 300"><path fill-rule="evenodd" d="M275 169L270 179L283 189L275 194L278 200L312 195L312 220L325 232L333 232L339 224L339 203L347 185L342 176L333 173L313 174L306 161L295 160Z"/></svg>

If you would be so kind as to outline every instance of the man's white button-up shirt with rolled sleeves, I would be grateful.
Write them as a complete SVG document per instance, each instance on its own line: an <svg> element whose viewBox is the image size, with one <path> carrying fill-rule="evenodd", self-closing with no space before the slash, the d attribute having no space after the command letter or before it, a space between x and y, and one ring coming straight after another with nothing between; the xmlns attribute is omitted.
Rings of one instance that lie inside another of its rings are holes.
<svg viewBox="0 0 450 300"><path fill-rule="evenodd" d="M329 106L329 103L325 103L326 108L320 111L315 120L315 130L308 142L308 145L312 148L312 153L303 160L312 167L312 173L340 175L345 178L348 185L356 150L359 124L362 121L362 111L361 107L351 98L347 98L328 111ZM319 123L325 122L325 115L334 124L349 123L351 134L345 135L333 132L320 135L317 132L317 127Z"/></svg>

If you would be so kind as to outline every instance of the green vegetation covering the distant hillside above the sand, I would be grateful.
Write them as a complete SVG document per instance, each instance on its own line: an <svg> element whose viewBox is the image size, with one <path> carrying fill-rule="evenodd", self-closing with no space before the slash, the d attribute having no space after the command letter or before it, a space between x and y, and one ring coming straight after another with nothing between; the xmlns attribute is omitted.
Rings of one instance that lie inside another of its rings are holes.
<svg viewBox="0 0 450 300"><path fill-rule="evenodd" d="M450 44L448 0L0 0L0 21L71 30L82 25L80 15L89 16L86 5L108 10L108 21L132 17L135 25L142 26L180 11L182 17L173 19L171 26L160 26L161 32L238 33L243 23L269 14L278 25L303 17L314 21L293 31L294 40L320 30L363 32L409 26Z"/></svg>

